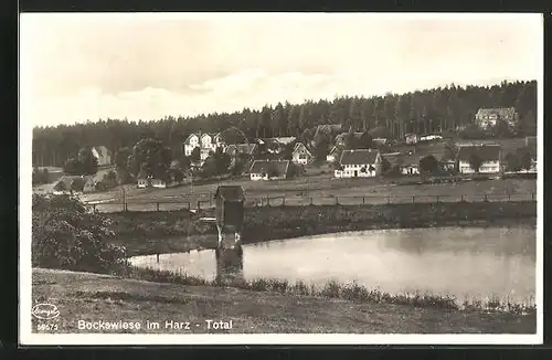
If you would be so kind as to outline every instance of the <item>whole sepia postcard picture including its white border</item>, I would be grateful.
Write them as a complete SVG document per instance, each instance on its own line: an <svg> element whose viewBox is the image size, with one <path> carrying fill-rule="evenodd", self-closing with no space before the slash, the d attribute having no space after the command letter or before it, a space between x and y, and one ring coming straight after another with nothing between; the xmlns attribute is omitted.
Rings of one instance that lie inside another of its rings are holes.
<svg viewBox="0 0 552 360"><path fill-rule="evenodd" d="M21 13L21 345L542 343L543 18Z"/></svg>

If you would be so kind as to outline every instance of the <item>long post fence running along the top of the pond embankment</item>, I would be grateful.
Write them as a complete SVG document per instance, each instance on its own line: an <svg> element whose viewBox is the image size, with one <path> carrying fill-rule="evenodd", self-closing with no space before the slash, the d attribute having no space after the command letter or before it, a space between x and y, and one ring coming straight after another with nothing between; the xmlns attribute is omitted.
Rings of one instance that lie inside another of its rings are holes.
<svg viewBox="0 0 552 360"><path fill-rule="evenodd" d="M247 198L245 205L248 208L261 207L306 207L306 205L360 205L360 204L385 204L385 203L439 203L439 202L508 202L508 201L535 201L537 194L512 193L512 194L413 194L413 195L328 195L328 197L286 197L265 195ZM119 211L174 211L174 210L201 210L214 207L213 198L209 200L191 199L188 201L130 201L130 202L88 202L94 211L119 212Z"/></svg>

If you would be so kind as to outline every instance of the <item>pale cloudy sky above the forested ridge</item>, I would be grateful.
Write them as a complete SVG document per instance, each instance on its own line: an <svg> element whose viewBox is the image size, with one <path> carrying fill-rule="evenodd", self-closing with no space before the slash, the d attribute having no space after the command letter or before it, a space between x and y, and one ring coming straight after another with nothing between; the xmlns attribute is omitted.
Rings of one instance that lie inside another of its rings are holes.
<svg viewBox="0 0 552 360"><path fill-rule="evenodd" d="M20 31L33 126L542 78L539 14L22 14Z"/></svg>

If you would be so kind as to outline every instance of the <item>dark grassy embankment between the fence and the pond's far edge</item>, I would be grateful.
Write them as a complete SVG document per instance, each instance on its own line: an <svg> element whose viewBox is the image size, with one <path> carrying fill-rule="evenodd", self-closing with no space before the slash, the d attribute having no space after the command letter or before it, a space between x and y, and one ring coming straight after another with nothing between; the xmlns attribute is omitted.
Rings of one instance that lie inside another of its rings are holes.
<svg viewBox="0 0 552 360"><path fill-rule="evenodd" d="M128 256L214 248L216 229L188 211L120 212L107 216ZM269 224L269 226L267 225ZM350 231L537 224L537 202L422 203L247 209L243 244ZM117 229L118 227L118 229Z"/></svg>

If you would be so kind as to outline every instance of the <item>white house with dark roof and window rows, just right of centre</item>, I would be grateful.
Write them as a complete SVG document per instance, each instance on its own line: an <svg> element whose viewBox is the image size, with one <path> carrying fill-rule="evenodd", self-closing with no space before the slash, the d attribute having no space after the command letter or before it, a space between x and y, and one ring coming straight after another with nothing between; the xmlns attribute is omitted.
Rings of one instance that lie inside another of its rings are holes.
<svg viewBox="0 0 552 360"><path fill-rule="evenodd" d="M368 178L381 173L382 158L380 151L372 149L343 150L336 178Z"/></svg>

